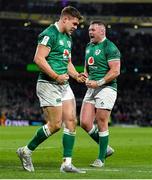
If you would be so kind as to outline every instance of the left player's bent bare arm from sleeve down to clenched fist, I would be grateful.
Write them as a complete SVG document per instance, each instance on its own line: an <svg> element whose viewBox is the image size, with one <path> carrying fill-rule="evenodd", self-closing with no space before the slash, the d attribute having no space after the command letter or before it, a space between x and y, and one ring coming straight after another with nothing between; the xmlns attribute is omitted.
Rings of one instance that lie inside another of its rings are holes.
<svg viewBox="0 0 152 180"><path fill-rule="evenodd" d="M46 61L46 57L48 56L50 51L51 51L50 48L39 44L37 46L37 50L34 56L34 62L43 72L45 72L51 78L58 81L60 84L63 84L65 81L69 79L69 76L67 74L58 75L56 72L52 70L52 68L49 66L48 62Z"/></svg>

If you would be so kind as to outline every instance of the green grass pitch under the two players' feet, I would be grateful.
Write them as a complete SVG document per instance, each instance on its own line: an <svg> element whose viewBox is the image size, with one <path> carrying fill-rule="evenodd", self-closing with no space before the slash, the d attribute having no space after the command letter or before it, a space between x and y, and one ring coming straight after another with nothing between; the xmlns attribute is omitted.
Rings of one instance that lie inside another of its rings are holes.
<svg viewBox="0 0 152 180"><path fill-rule="evenodd" d="M91 168L98 154L97 144L77 127L73 152L75 166L86 174L60 173L62 161L62 130L41 144L33 153L35 172L25 172L16 149L25 145L38 127L0 127L1 179L149 179L152 178L152 129L110 127L110 145L115 154L105 167Z"/></svg>

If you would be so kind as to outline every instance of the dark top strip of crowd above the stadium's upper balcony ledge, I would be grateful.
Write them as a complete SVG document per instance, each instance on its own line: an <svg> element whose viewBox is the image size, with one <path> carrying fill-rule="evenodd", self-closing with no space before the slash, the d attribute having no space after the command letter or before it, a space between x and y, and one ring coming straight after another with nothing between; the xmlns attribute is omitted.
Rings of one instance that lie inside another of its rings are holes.
<svg viewBox="0 0 152 180"><path fill-rule="evenodd" d="M87 2L87 0L86 0ZM151 6L145 3L90 3L70 0L0 0L0 10L28 13L60 14L68 4L76 7L83 15L151 16ZM127 2L127 0L126 0Z"/></svg>

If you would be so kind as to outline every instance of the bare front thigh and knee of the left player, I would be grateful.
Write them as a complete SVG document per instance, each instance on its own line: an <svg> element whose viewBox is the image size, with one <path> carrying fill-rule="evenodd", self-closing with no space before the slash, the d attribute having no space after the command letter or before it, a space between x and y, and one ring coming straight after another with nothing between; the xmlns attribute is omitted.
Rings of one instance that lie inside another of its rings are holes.
<svg viewBox="0 0 152 180"><path fill-rule="evenodd" d="M62 102L62 120L66 128L71 131L76 127L75 99L64 100Z"/></svg>

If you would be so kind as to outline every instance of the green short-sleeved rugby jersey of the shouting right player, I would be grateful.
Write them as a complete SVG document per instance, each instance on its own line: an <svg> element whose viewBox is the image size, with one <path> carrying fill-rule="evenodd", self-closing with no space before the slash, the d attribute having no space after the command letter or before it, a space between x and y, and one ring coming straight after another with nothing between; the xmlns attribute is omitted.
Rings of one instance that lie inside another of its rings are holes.
<svg viewBox="0 0 152 180"><path fill-rule="evenodd" d="M115 59L120 60L120 51L116 45L107 38L98 44L89 43L85 52L89 80L96 81L103 78L110 69L108 62ZM106 85L117 89L116 79Z"/></svg>

